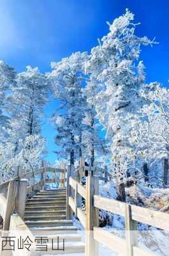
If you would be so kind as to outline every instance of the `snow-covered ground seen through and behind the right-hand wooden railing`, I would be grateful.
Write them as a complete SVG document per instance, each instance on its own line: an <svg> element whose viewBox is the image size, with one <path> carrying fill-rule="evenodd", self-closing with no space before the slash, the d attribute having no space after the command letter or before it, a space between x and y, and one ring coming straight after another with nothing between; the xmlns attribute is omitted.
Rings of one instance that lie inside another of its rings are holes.
<svg viewBox="0 0 169 256"><path fill-rule="evenodd" d="M115 199L117 193L114 180L107 182L107 184L101 181L99 183L99 195ZM156 210L161 209L169 202L169 189L153 189L141 184L126 188L126 195L128 203ZM105 211L102 211L102 214L103 212ZM112 225L106 225L105 229L116 236L125 238L124 218L110 212L108 212L108 216L112 220ZM169 232L138 223L138 246L157 255L168 256Z"/></svg>

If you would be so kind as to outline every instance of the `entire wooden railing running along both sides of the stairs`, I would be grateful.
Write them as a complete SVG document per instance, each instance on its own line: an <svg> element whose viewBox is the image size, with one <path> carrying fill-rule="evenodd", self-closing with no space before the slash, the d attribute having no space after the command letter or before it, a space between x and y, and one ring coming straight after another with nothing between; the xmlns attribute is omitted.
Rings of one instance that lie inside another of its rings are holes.
<svg viewBox="0 0 169 256"><path fill-rule="evenodd" d="M122 256L152 256L152 253L138 247L138 222L169 231L169 215L99 196L99 178L93 176L90 170L85 186L82 186L76 179L77 175L73 166L68 166L66 177L65 164L61 168L43 167L40 170L20 175L20 177L1 184L0 191L2 190L3 194L0 195L0 204L2 205L0 214L3 214L3 229L9 230L13 212L17 212L20 218L24 216L27 188L28 191L33 191L36 188L42 189L46 183L57 181L61 182L61 186L64 186L66 181L66 218L71 220L74 212L84 226L86 230L86 256L98 255L98 243L105 244L105 246ZM48 175L49 173L50 175ZM60 173L59 176L57 176L58 173ZM85 200L85 211L82 210L82 198ZM119 214L125 218L125 239L99 228L99 209Z"/></svg>

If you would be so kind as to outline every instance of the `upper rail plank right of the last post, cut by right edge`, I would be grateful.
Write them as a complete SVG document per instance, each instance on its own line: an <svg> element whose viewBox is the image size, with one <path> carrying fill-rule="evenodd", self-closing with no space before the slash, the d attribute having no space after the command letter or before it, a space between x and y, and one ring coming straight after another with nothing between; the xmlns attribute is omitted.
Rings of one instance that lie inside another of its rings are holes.
<svg viewBox="0 0 169 256"><path fill-rule="evenodd" d="M169 214L131 205L133 220L169 231Z"/></svg>

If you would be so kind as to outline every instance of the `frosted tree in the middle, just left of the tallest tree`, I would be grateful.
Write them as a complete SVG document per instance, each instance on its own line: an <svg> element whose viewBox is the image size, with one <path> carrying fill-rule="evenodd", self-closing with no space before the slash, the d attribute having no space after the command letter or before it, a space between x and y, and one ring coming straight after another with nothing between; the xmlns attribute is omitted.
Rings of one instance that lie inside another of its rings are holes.
<svg viewBox="0 0 169 256"><path fill-rule="evenodd" d="M82 120L85 117L86 100L82 93L82 63L86 56L86 53L76 52L59 63L52 63L52 72L49 74L54 97L59 101L59 108L52 117L57 130L55 143L61 150L59 156L70 157L70 164L75 163L77 156L82 157L84 149Z"/></svg>

